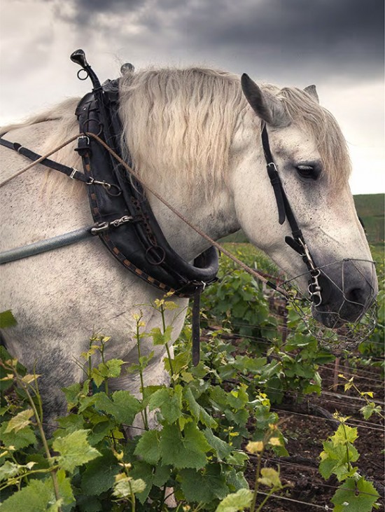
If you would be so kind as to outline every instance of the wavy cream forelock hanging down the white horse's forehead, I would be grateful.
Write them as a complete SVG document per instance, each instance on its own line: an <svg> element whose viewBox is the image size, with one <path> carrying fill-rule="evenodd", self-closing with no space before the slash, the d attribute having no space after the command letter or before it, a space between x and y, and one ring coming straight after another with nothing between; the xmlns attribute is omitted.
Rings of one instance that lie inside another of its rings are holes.
<svg viewBox="0 0 385 512"><path fill-rule="evenodd" d="M335 190L346 186L351 161L344 135L334 116L297 88L283 88L277 93L292 122L309 134L323 162L323 172Z"/></svg>

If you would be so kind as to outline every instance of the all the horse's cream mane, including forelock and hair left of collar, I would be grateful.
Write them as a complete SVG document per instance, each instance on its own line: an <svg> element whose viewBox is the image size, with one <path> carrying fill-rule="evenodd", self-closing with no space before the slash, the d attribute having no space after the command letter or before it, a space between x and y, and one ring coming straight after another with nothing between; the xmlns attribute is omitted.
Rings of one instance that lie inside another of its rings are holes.
<svg viewBox="0 0 385 512"><path fill-rule="evenodd" d="M344 186L351 165L332 114L303 90L268 84L261 88L276 95L290 120L314 137L328 181L336 189ZM123 153L126 149L127 156L130 151L132 165L145 183L167 179L181 186L203 187L210 195L226 182L233 134L248 109L239 76L197 67L145 69L126 73L119 93ZM41 148L42 153L48 152L78 132L74 115L78 101L67 99L25 123L4 127L1 133L59 119L58 129ZM73 145L50 158L79 165ZM178 179L181 174L184 180Z"/></svg>

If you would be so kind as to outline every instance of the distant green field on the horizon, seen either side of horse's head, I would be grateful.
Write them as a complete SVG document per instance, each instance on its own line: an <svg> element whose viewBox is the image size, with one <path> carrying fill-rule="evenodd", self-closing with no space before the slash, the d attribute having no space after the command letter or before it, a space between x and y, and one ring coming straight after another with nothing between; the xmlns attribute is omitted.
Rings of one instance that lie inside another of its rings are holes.
<svg viewBox="0 0 385 512"><path fill-rule="evenodd" d="M358 216L363 225L367 240L371 245L384 242L384 202L385 194L362 194L354 196ZM247 242L243 231L225 237L225 242Z"/></svg>

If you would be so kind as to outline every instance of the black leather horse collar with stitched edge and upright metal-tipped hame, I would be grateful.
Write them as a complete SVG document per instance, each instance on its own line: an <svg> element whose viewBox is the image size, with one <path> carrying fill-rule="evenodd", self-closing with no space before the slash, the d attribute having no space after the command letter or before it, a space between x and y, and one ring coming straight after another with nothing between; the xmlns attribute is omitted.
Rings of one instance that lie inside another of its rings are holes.
<svg viewBox="0 0 385 512"><path fill-rule="evenodd" d="M141 184L134 177L127 176L127 171L111 153L85 135L85 132L99 135L121 156L119 79L100 85L85 60L83 50L74 52L71 60L80 64L93 85L92 92L80 100L76 109L80 126L76 151L83 160L84 173L89 179L87 191L92 216L101 226L97 234L111 254L141 279L177 296L195 296L197 291L216 281L216 249L210 247L192 265L170 247ZM127 163L131 165L131 162Z"/></svg>

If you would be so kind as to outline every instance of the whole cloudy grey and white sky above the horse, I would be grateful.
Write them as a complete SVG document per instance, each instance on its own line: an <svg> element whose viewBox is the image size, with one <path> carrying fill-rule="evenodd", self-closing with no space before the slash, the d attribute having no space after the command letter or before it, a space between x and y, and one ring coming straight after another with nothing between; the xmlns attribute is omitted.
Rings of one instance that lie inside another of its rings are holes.
<svg viewBox="0 0 385 512"><path fill-rule="evenodd" d="M120 65L203 64L257 82L315 83L349 142L353 193L384 192L383 0L0 0L0 124L90 88Z"/></svg>

